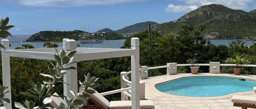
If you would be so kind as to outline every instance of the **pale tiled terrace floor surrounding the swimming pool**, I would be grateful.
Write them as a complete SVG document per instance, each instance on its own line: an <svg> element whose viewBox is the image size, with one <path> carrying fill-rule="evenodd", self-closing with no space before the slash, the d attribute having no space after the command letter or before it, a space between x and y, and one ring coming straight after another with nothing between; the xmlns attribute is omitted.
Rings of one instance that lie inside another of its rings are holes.
<svg viewBox="0 0 256 109"><path fill-rule="evenodd" d="M233 74L209 74L203 73L202 75L216 75L216 76L236 76ZM241 107L234 107L231 102L231 97L234 95L227 95L225 97L214 97L214 98L186 98L177 95L165 94L159 92L154 88L154 85L163 81L168 81L182 76L197 76L192 74L177 74L177 75L163 75L146 80L141 80L146 82L145 85L145 97L146 99L153 100L156 109L241 109ZM251 78L256 79L254 75L239 75L240 78ZM256 85L255 85L256 86ZM238 93L237 93L238 94ZM248 94L256 97L256 93L239 93Z"/></svg>

